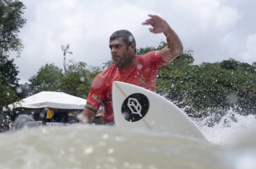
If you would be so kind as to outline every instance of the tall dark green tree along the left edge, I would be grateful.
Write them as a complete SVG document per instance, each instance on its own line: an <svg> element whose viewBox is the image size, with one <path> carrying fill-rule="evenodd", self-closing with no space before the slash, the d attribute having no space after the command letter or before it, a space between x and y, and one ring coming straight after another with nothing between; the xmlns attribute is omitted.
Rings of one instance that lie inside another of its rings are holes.
<svg viewBox="0 0 256 169"><path fill-rule="evenodd" d="M8 52L21 54L23 44L18 37L19 30L25 25L23 17L25 6L19 0L0 1L0 120L6 120L2 107L19 100L16 92L18 86L18 67L14 59L8 60ZM6 107L7 108L7 107ZM0 126L1 127L1 126Z"/></svg>

